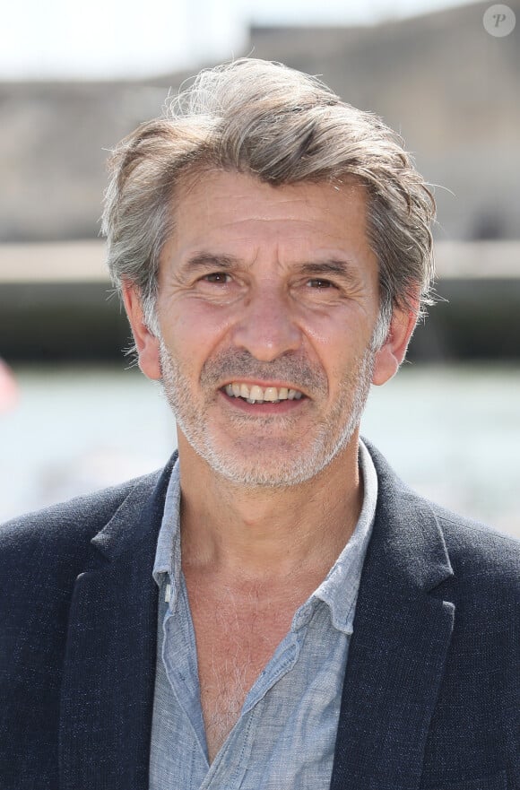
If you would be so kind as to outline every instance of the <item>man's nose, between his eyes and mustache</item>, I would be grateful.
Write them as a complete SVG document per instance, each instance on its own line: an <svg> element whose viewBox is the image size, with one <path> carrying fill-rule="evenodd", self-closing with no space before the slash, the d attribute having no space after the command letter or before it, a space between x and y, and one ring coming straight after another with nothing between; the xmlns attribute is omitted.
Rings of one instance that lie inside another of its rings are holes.
<svg viewBox="0 0 520 790"><path fill-rule="evenodd" d="M280 285L273 282L258 285L243 303L234 326L233 343L264 362L295 352L301 343L301 333L293 313L294 307Z"/></svg>

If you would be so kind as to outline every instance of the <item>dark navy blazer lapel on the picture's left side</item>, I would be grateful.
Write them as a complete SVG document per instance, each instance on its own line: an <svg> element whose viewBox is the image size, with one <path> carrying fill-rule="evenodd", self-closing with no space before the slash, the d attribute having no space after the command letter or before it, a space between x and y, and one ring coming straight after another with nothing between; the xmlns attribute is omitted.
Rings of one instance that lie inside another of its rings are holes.
<svg viewBox="0 0 520 790"><path fill-rule="evenodd" d="M174 456L136 486L91 541L69 616L60 709L60 790L146 790L158 591L157 534Z"/></svg>

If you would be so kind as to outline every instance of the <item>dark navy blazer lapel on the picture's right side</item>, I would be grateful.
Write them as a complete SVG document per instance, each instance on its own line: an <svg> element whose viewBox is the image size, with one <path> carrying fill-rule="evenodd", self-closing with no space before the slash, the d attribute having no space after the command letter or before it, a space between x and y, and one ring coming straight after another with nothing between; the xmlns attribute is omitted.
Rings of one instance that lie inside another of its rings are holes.
<svg viewBox="0 0 520 790"><path fill-rule="evenodd" d="M412 790L454 624L453 576L428 504L370 447L379 496L342 691L331 790Z"/></svg>

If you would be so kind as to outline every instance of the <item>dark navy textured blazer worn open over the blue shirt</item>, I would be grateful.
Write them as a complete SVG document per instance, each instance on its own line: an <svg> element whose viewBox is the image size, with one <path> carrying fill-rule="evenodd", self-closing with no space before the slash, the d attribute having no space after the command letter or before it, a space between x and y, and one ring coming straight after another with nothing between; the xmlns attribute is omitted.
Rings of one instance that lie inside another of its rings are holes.
<svg viewBox="0 0 520 790"><path fill-rule="evenodd" d="M420 499L370 452L377 515L331 788L520 790L519 544ZM1 528L1 790L147 787L172 461Z"/></svg>

